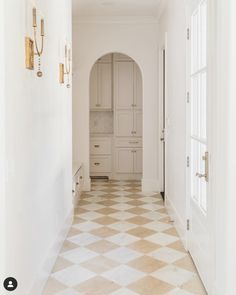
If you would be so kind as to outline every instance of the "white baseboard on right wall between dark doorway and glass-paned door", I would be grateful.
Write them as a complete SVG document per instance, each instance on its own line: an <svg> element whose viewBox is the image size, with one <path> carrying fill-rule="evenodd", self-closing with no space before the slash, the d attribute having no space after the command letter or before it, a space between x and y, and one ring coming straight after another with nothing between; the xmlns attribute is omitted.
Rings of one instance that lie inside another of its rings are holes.
<svg viewBox="0 0 236 295"><path fill-rule="evenodd" d="M174 204L171 202L169 197L165 196L165 206L168 211L168 214L172 221L174 221L174 226L180 236L181 241L184 244L185 249L187 248L187 239L186 239L186 224L185 221L180 217L178 211L176 210Z"/></svg>

